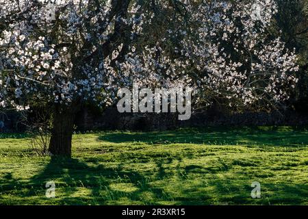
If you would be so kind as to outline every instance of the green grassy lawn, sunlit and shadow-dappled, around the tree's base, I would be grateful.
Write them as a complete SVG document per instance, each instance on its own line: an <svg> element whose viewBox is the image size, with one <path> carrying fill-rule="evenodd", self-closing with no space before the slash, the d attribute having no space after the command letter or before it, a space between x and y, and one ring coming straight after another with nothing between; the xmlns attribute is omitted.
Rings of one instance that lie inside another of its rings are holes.
<svg viewBox="0 0 308 219"><path fill-rule="evenodd" d="M251 198L253 181L261 198ZM308 205L308 131L75 134L72 159L38 157L26 136L0 134L0 205L18 204Z"/></svg>

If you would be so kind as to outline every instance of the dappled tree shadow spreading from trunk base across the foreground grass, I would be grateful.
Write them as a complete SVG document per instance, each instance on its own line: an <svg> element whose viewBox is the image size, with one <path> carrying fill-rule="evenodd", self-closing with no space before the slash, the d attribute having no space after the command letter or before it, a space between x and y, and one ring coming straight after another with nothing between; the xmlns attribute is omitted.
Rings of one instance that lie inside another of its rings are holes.
<svg viewBox="0 0 308 219"><path fill-rule="evenodd" d="M300 205L308 202L308 185L285 182L273 185L260 179L261 192L264 193L261 199L252 199L249 183L254 179L243 180L240 175L239 179L234 177L233 180L215 179L214 176L232 170L223 161L211 167L177 165L172 172L169 165L173 162L181 164L181 159L156 159L155 171L146 172L127 170L125 163L110 168L103 164L86 164L79 159L52 157L42 172L26 183L20 183L12 177L12 172L7 172L0 179L0 190L1 194L15 191L19 201L23 200L19 205L29 204L27 201L31 197L36 197L31 203L36 205L159 205L162 202L177 205ZM201 181L194 179L200 175L203 175ZM170 185L172 177L176 181ZM47 181L55 182L56 198L45 198ZM0 203L3 204L1 194Z"/></svg>

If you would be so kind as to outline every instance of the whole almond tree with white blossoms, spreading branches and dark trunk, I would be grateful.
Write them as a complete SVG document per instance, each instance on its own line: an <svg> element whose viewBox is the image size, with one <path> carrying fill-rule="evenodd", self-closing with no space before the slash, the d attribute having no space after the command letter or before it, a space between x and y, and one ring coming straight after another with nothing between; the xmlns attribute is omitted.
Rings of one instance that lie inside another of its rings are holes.
<svg viewBox="0 0 308 219"><path fill-rule="evenodd" d="M53 105L54 155L70 155L82 103L133 81L231 107L278 104L296 83L296 55L268 32L273 0L59 0L52 19L44 1L0 5L0 105Z"/></svg>

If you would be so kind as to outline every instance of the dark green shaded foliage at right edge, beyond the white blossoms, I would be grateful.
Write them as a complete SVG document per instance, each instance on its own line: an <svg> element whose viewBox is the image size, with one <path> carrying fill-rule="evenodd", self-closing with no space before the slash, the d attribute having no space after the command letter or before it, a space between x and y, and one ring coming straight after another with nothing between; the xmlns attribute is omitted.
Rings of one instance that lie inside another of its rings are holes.
<svg viewBox="0 0 308 219"><path fill-rule="evenodd" d="M308 107L308 1L277 0L279 13L277 26L282 31L283 41L298 53L298 85L288 103L297 112L306 112Z"/></svg>

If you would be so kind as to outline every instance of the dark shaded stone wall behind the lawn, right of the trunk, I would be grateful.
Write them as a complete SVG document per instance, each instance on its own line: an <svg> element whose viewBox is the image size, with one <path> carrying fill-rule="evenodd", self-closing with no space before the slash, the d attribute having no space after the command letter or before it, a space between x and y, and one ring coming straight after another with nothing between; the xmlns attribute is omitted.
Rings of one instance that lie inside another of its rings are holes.
<svg viewBox="0 0 308 219"><path fill-rule="evenodd" d="M76 120L80 131L108 129L108 130L138 130L163 131L177 127L205 127L205 126L253 126L253 125L308 125L308 115L297 114L293 111L279 112L245 112L225 114L215 110L194 112L190 120L178 120L177 114L120 114L115 107L110 107L103 114L92 114L84 109Z"/></svg>

